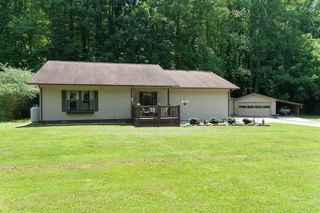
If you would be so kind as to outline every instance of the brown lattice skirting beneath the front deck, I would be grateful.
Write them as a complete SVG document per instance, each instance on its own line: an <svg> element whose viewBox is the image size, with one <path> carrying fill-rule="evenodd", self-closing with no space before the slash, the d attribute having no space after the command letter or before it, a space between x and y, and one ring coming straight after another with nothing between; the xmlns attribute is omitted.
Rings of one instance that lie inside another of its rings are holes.
<svg viewBox="0 0 320 213"><path fill-rule="evenodd" d="M149 126L170 126L179 127L180 120L178 118L133 118L133 125L136 127Z"/></svg>

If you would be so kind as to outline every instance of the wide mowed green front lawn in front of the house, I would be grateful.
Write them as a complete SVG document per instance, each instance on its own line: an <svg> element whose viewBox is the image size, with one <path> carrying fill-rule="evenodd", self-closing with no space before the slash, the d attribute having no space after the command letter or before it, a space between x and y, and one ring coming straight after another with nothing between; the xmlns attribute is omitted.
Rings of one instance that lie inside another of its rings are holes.
<svg viewBox="0 0 320 213"><path fill-rule="evenodd" d="M320 212L319 128L0 123L0 212Z"/></svg>

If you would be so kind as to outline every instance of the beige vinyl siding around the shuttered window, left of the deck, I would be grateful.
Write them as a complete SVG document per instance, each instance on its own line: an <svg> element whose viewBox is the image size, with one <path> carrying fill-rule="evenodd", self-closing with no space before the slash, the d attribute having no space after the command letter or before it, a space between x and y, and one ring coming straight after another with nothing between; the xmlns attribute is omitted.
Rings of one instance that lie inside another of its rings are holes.
<svg viewBox="0 0 320 213"><path fill-rule="evenodd" d="M131 87L40 85L42 88L42 120L102 120L131 119ZM67 114L61 111L61 90L97 90L98 111L93 114Z"/></svg>

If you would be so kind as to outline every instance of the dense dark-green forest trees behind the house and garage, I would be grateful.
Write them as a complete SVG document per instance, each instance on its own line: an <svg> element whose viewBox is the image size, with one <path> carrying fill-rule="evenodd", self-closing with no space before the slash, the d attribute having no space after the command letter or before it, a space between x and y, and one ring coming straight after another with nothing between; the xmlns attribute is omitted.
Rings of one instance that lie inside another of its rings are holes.
<svg viewBox="0 0 320 213"><path fill-rule="evenodd" d="M319 0L0 0L0 62L209 70L320 111Z"/></svg>

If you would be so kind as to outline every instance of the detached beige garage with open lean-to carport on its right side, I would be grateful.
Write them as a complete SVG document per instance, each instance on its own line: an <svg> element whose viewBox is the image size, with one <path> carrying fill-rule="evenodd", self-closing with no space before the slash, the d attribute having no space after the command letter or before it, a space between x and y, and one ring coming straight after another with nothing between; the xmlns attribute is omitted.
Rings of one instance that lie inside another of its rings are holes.
<svg viewBox="0 0 320 213"><path fill-rule="evenodd" d="M299 116L299 108L303 104L284 101L253 92L233 100L233 114L243 116L270 116L278 114L279 109L290 109L290 114Z"/></svg>

